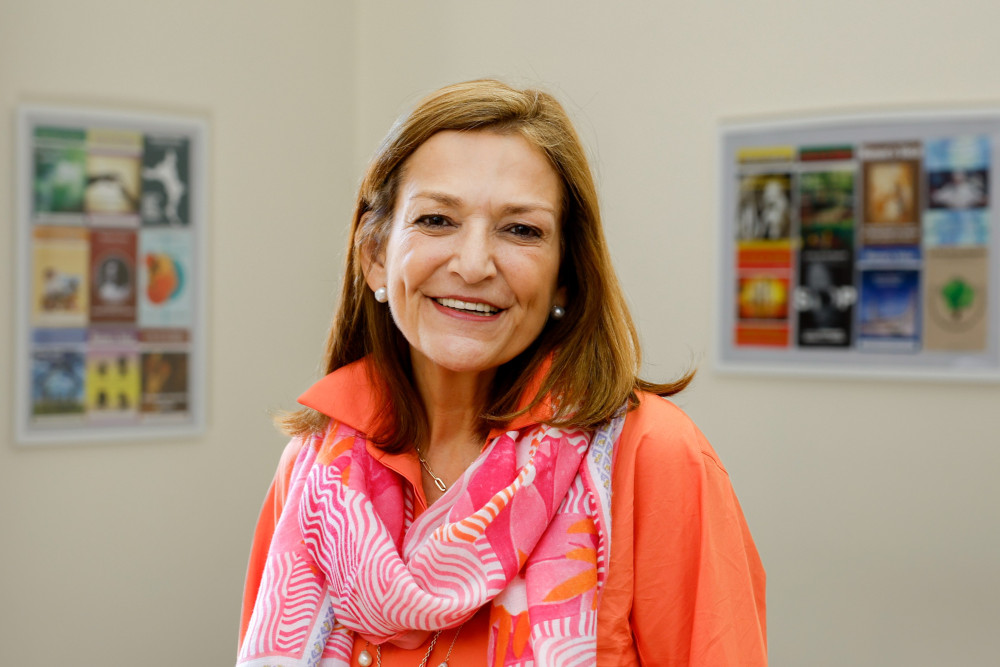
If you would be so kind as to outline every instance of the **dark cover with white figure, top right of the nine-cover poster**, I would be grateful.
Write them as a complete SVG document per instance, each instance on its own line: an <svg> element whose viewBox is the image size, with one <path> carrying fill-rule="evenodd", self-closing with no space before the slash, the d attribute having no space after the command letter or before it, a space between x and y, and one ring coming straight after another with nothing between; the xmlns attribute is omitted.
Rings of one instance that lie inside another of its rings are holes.
<svg viewBox="0 0 1000 667"><path fill-rule="evenodd" d="M190 224L190 152L190 141L185 137L145 137L142 155L143 225Z"/></svg>

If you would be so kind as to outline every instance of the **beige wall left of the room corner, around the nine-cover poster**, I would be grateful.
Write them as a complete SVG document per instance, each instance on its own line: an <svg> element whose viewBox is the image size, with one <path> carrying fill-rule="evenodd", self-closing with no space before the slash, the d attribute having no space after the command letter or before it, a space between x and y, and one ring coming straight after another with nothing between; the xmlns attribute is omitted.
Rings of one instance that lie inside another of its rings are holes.
<svg viewBox="0 0 1000 667"><path fill-rule="evenodd" d="M314 377L344 247L354 9L321 0L0 0L0 665L235 661L257 508ZM18 103L210 124L204 437L17 448Z"/></svg>

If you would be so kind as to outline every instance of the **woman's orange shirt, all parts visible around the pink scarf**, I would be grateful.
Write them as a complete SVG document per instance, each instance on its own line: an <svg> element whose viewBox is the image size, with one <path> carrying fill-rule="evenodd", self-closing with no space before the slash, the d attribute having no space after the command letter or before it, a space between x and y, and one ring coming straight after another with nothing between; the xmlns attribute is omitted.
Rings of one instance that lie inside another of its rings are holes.
<svg viewBox="0 0 1000 667"><path fill-rule="evenodd" d="M355 363L299 400L365 432L379 409L371 397L364 366ZM679 408L651 394L640 400L625 419L612 478L611 565L598 608L597 664L766 665L764 568L729 475ZM543 407L508 428L533 425L544 414ZM241 643L302 443L285 448L257 521ZM425 509L416 456L369 450L413 486L417 510ZM485 665L488 627L485 608L462 627L450 664ZM444 660L454 638L454 630L444 631L428 664ZM355 641L355 658L364 648L364 640ZM375 647L368 650L374 655ZM386 646L382 665L412 667L426 650L426 643L412 651Z"/></svg>

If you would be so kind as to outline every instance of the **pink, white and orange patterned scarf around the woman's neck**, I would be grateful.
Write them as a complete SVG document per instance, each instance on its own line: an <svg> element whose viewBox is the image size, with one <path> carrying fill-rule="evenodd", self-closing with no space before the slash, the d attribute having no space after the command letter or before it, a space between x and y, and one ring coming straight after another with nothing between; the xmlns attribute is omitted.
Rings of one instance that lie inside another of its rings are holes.
<svg viewBox="0 0 1000 667"><path fill-rule="evenodd" d="M295 462L238 665L346 667L354 633L415 648L487 603L487 664L594 664L623 422L494 438L415 519L410 485L332 422Z"/></svg>

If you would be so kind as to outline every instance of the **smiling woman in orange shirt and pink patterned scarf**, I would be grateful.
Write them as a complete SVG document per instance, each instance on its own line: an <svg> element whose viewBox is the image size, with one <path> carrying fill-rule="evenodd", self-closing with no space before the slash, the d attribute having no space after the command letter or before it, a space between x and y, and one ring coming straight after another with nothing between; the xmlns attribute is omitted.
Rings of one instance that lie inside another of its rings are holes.
<svg viewBox="0 0 1000 667"><path fill-rule="evenodd" d="M638 368L560 105L424 99L369 166L328 375L283 420L240 664L765 664L726 472L656 396L690 376Z"/></svg>

